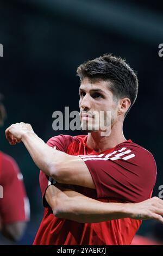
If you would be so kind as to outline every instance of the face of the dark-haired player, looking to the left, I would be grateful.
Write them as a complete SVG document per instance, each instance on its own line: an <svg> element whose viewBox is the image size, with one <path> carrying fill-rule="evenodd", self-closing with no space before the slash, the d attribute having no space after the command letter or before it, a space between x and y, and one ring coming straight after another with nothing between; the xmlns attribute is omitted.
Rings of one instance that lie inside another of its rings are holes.
<svg viewBox="0 0 163 256"><path fill-rule="evenodd" d="M106 131L109 126L111 129L117 117L117 102L109 90L109 82L84 78L79 94L81 130Z"/></svg>

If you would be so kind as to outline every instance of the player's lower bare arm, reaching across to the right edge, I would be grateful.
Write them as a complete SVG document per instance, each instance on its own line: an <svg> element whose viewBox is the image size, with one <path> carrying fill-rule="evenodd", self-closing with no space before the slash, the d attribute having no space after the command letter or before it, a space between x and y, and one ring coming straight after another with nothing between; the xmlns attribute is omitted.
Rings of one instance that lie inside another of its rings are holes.
<svg viewBox="0 0 163 256"><path fill-rule="evenodd" d="M96 223L120 218L158 220L163 224L163 202L157 197L141 203L103 203L85 197L66 185L51 185L46 191L46 200L58 218L81 223Z"/></svg>

